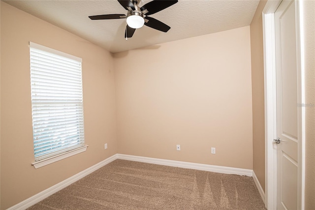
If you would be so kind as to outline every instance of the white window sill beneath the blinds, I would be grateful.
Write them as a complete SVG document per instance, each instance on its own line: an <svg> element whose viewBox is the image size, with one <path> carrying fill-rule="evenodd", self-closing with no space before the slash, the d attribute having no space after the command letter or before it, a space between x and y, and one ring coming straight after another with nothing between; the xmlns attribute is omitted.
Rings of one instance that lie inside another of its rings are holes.
<svg viewBox="0 0 315 210"><path fill-rule="evenodd" d="M84 146L82 146L80 148L72 149L72 150L70 150L68 152L64 152L62 154L55 155L55 156L52 156L50 158L46 158L46 159L43 159L43 160L36 161L36 162L32 163L32 166L35 169L38 169L40 167L43 167L43 166L46 166L48 164L60 161L60 160L62 160L64 158L70 157L72 155L76 155L76 154L79 154L81 152L85 152L87 150L87 148L88 148L88 145L84 145Z"/></svg>

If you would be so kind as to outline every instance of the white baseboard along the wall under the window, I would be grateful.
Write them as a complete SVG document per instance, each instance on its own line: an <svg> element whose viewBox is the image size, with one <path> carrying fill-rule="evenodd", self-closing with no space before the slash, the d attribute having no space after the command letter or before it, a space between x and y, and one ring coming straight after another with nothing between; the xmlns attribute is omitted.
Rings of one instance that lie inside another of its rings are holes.
<svg viewBox="0 0 315 210"><path fill-rule="evenodd" d="M31 206L33 206L34 204L44 200L45 198L51 196L52 194L62 190L63 188L69 186L70 184L76 182L77 180L83 178L86 175L91 174L92 172L95 172L97 169L109 164L110 162L114 161L117 159L117 154L95 164L94 166L91 166L90 168L76 174L73 175L65 180L63 180L62 182L59 182L58 184L55 184L54 186L51 186L49 188L47 188L46 190L43 190L39 193L37 193L36 195L33 195L32 197L8 208L7 210L25 210Z"/></svg>

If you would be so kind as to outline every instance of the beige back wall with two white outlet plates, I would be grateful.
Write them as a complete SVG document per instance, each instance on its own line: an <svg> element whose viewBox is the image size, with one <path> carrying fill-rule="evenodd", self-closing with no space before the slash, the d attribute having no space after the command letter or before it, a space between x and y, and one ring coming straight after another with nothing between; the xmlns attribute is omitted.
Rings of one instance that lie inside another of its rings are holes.
<svg viewBox="0 0 315 210"><path fill-rule="evenodd" d="M249 26L117 53L114 64L119 153L252 169Z"/></svg>

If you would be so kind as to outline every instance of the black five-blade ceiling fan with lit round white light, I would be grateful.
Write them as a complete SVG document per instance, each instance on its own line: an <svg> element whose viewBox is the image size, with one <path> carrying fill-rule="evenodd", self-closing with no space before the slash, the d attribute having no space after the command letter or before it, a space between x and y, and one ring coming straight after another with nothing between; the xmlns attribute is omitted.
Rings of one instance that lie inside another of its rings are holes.
<svg viewBox="0 0 315 210"><path fill-rule="evenodd" d="M118 0L118 2L128 10L127 14L108 14L108 15L94 15L89 16L91 20L108 20L108 19L121 19L126 18L127 26L125 31L125 38L130 38L136 29L146 25L150 28L156 29L161 32L167 32L171 27L158 21L155 18L148 17L157 13L175 3L178 0L153 0L142 7L139 7L141 0Z"/></svg>

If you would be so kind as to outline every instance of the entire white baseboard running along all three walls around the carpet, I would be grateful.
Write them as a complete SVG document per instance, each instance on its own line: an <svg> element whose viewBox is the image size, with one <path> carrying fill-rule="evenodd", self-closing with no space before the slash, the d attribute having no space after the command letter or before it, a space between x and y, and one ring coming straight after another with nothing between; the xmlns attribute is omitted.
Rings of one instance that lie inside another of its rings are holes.
<svg viewBox="0 0 315 210"><path fill-rule="evenodd" d="M249 170L249 169L239 169L239 168L224 167L224 166L212 166L212 165L206 165L206 164L189 163L189 162L165 160L165 159L158 159L158 158L148 158L148 157L140 157L140 156L133 156L133 155L115 154L115 155L95 164L94 166L91 166L90 168L63 180L62 182L59 182L58 184L55 184L54 186L51 186L48 189L37 193L36 195L33 195L32 197L8 208L7 210L25 210L25 209L31 207L32 205L34 205L34 204L44 200L45 198L51 196L52 194L54 194L54 193L62 190L63 188L69 186L70 184L76 182L77 180L83 178L84 176L89 175L92 172L95 172L97 169L109 164L110 162L112 162L116 159L137 161L137 162L143 162L143 163L152 163L152 164L158 164L158 165L164 165L164 166L173 166L173 167L179 167L179 168L185 168L185 169L195 169L195 170L202 170L202 171L207 171L207 172L216 172L216 173L222 173L222 174L236 174L236 175L247 175L247 176L253 175L252 170ZM257 179L257 177L256 177L256 179ZM255 180L255 178L254 178L254 180ZM258 182L258 180L257 180L257 182ZM257 185L257 183L256 183L256 185ZM259 190L259 187L258 187L258 190ZM261 189L261 192L263 193L262 189ZM259 193L261 193L261 192L259 191ZM260 194L260 195L262 195L262 194ZM263 195L264 195L264 193L263 193ZM263 198L263 201L265 201L264 198Z"/></svg>

